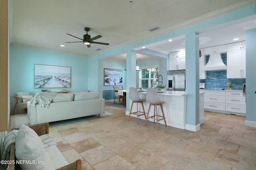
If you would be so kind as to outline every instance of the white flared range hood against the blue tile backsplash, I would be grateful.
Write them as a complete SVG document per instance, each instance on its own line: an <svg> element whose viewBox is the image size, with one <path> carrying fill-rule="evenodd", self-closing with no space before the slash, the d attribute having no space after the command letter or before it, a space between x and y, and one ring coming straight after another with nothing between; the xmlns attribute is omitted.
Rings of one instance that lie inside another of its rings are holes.
<svg viewBox="0 0 256 170"><path fill-rule="evenodd" d="M227 66L223 63L220 53L210 54L208 63L203 67L204 71L220 71L227 70Z"/></svg>

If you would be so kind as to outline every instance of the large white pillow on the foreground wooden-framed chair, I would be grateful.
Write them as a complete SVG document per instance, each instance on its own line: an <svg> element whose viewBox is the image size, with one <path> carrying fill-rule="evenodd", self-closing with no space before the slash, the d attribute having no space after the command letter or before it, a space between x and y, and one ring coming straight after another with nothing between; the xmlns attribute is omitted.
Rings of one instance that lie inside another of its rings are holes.
<svg viewBox="0 0 256 170"><path fill-rule="evenodd" d="M45 150L40 137L36 132L21 125L15 142L15 155L17 160L24 161L20 164L22 170L43 170L45 161Z"/></svg>

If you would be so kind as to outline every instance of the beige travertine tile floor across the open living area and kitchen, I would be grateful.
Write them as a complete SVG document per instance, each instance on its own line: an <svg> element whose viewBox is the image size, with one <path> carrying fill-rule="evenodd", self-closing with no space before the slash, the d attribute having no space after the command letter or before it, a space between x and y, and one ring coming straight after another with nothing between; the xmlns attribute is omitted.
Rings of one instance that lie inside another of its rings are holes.
<svg viewBox="0 0 256 170"><path fill-rule="evenodd" d="M198 132L156 130L128 121L124 108L105 108L115 114L50 127L64 157L81 159L83 170L256 170L256 128L245 117L205 112Z"/></svg>

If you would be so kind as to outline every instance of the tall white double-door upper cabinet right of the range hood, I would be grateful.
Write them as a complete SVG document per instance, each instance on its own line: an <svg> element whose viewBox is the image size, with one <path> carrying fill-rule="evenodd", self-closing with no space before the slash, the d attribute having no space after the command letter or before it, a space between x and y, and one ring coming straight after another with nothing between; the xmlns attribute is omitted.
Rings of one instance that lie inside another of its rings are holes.
<svg viewBox="0 0 256 170"><path fill-rule="evenodd" d="M228 51L227 78L246 78L245 51L245 49Z"/></svg>

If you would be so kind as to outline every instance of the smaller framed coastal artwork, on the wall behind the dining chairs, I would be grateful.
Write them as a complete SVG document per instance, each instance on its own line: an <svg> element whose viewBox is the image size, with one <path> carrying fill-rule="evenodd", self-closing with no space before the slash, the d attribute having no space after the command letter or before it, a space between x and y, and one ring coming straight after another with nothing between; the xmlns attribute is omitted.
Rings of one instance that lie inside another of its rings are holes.
<svg viewBox="0 0 256 170"><path fill-rule="evenodd" d="M122 86L123 70L104 68L104 86Z"/></svg>

